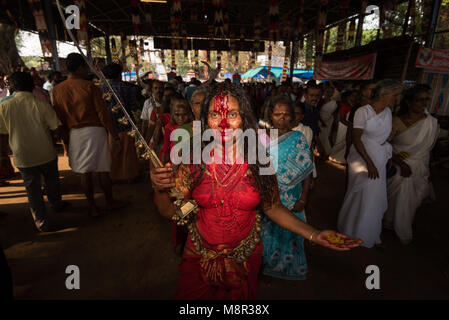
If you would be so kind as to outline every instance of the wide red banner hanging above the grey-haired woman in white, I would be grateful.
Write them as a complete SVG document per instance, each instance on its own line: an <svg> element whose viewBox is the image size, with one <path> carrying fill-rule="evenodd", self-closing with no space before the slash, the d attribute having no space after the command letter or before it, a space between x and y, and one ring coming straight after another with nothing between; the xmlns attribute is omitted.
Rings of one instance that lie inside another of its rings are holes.
<svg viewBox="0 0 449 320"><path fill-rule="evenodd" d="M338 61L322 61L317 80L369 80L374 76L376 53Z"/></svg>

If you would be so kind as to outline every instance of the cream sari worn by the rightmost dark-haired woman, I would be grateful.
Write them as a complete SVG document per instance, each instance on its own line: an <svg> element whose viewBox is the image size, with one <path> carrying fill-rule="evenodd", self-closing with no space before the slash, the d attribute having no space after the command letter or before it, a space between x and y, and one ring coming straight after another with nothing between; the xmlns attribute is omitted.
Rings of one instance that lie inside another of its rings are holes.
<svg viewBox="0 0 449 320"><path fill-rule="evenodd" d="M393 122L405 127L399 117L394 118ZM391 142L394 153L407 154L404 161L412 175L402 177L398 167L397 173L388 179L388 211L384 225L394 228L397 236L405 242L413 238L412 224L416 210L426 197L433 194L429 158L437 138L438 121L427 113L425 119L396 135Z"/></svg>

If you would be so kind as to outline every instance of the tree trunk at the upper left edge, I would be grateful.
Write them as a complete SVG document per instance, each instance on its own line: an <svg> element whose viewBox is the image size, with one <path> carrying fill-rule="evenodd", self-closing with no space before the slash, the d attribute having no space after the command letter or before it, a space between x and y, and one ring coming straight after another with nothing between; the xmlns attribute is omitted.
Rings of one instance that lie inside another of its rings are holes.
<svg viewBox="0 0 449 320"><path fill-rule="evenodd" d="M16 33L15 26L0 23L0 73L9 74L25 65L17 51Z"/></svg>

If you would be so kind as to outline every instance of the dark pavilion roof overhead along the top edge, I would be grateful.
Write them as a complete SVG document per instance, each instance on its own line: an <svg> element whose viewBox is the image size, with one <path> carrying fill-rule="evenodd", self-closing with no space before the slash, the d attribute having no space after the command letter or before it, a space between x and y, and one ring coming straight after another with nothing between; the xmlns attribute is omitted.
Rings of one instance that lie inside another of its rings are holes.
<svg viewBox="0 0 449 320"><path fill-rule="evenodd" d="M43 1L42 1L43 2ZM53 0L53 17L57 26L59 40L64 38L62 20L56 10ZM170 37L170 9L171 0L167 3L139 3L139 13L142 25L140 35ZM304 34L313 31L317 24L317 16L321 0L305 0L303 26ZM327 25L336 23L344 18L356 15L360 11L361 1L348 0L349 7L344 16L340 10L340 0L328 1ZM371 0L370 4L379 5L380 0ZM399 1L402 2L402 1ZM31 12L28 0L0 0L11 12L16 23L21 29L36 30L36 25ZM63 5L71 5L74 0L61 0ZM245 39L254 39L254 18L260 16L262 22L262 40L269 40L268 0L226 0L226 11L229 16L229 34L234 34L236 39L240 39L243 32ZM214 6L211 0L181 0L182 5L182 26L186 32L185 37L209 38L209 25L213 25ZM88 21L109 35L133 35L132 7L130 0L86 0L86 14ZM192 13L196 12L198 19L191 19ZM152 17L152 27L145 24L145 13L150 13ZM205 16L209 20L205 19ZM281 27L281 40L287 40L282 29L286 25L292 28L296 26L300 15L299 0L280 0L279 18ZM5 15L0 14L0 20L5 20ZM98 29L89 28L90 36L101 35Z"/></svg>

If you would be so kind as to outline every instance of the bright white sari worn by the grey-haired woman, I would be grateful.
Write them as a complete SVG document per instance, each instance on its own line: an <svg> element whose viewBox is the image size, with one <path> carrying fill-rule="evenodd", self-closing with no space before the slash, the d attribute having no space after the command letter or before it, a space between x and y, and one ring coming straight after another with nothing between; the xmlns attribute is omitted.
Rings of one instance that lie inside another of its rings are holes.
<svg viewBox="0 0 449 320"><path fill-rule="evenodd" d="M387 170L392 147L387 142L391 132L389 108L379 114L368 104L354 116L354 128L363 130L362 142L379 172L379 178L368 178L365 160L351 146L348 156L348 189L338 215L338 229L353 238L363 240L362 246L380 244L382 218L387 210Z"/></svg>

